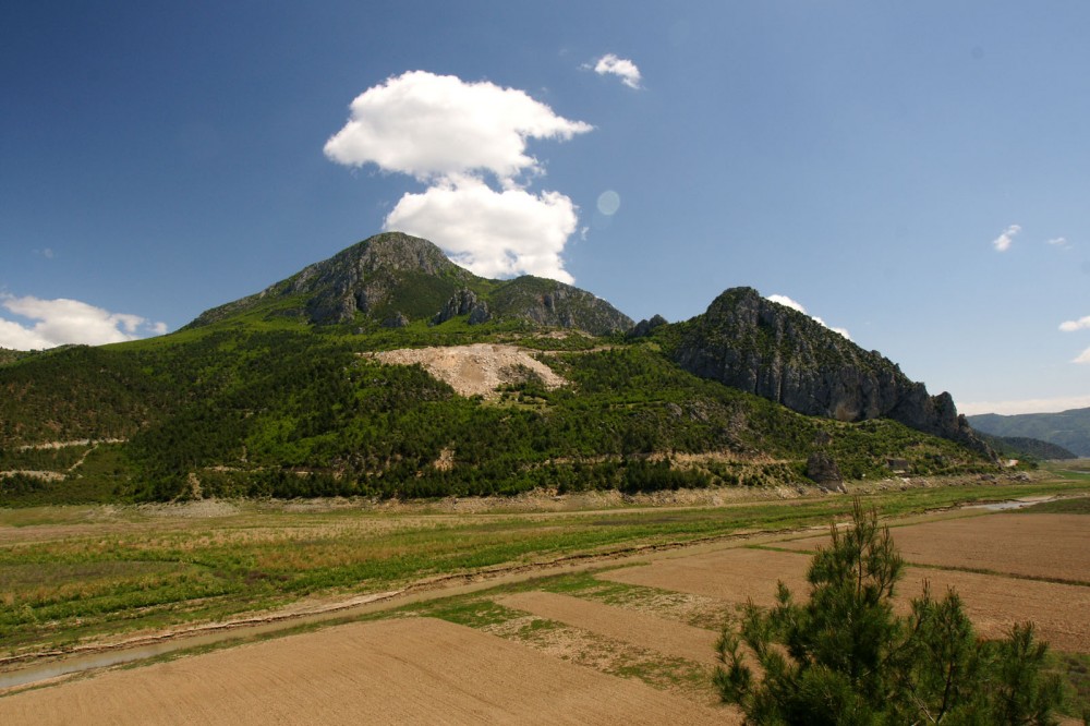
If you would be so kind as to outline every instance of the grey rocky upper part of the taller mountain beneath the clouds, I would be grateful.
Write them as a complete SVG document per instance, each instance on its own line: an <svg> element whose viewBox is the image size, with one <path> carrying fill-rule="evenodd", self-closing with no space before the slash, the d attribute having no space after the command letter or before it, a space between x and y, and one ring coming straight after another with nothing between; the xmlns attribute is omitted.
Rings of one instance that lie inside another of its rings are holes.
<svg viewBox="0 0 1090 726"><path fill-rule="evenodd" d="M206 311L186 328L246 314L387 327L469 315L471 324L522 322L592 335L632 326L631 318L585 290L532 276L477 277L427 240L400 232L372 237L256 294Z"/></svg>

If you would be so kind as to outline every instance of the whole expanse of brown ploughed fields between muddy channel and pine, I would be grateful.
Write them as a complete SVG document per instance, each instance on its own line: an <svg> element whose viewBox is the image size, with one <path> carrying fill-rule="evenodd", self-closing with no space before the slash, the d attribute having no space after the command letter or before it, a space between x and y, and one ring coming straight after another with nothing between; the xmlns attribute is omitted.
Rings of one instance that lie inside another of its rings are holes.
<svg viewBox="0 0 1090 726"><path fill-rule="evenodd" d="M910 565L898 606L928 580L956 588L985 637L1033 620L1055 650L1090 653L1090 518L965 513L892 530ZM13 693L0 723L738 723L710 682L717 627L772 604L777 580L804 596L827 536L753 542Z"/></svg>

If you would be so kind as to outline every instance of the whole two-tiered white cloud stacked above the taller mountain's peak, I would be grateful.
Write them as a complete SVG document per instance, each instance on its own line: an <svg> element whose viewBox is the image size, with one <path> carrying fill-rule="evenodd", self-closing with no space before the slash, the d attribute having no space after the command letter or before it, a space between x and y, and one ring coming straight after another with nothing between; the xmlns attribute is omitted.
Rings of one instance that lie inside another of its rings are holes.
<svg viewBox="0 0 1090 726"><path fill-rule="evenodd" d="M568 141L591 124L558 116L523 90L425 71L368 88L351 111L325 145L329 159L374 164L427 185L401 197L386 229L425 237L479 275L572 281L561 253L577 208L559 192L528 191L528 178L544 176L528 145Z"/></svg>

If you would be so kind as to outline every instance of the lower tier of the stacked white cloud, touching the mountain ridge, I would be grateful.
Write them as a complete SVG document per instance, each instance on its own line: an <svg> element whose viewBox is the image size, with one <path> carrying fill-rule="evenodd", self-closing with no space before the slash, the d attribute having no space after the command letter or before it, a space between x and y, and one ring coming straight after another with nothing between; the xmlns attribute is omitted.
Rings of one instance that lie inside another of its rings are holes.
<svg viewBox="0 0 1090 726"><path fill-rule="evenodd" d="M385 225L441 240L456 263L483 277L530 274L570 283L560 253L578 221L576 206L559 192L495 192L465 177L405 194Z"/></svg>

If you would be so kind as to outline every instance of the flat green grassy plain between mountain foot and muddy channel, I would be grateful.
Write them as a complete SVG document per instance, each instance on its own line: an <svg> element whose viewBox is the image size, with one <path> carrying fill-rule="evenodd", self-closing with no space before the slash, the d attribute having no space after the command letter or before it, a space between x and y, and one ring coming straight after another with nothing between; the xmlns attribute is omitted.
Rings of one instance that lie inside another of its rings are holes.
<svg viewBox="0 0 1090 726"><path fill-rule="evenodd" d="M882 516L895 516L1077 491L1086 487L981 484L863 498ZM302 598L395 590L425 578L824 525L847 516L850 500L748 503L675 509L668 516L640 508L607 518L580 512L451 517L420 509L384 513L366 506L304 511L241 501L216 509L213 517L186 506L0 509L0 528L12 528L0 540L5 578L0 642L8 652L34 652L136 629L237 617ZM550 580L547 589L625 606L665 603L664 593L590 576ZM437 617L487 622L502 616L492 606L465 607Z"/></svg>

